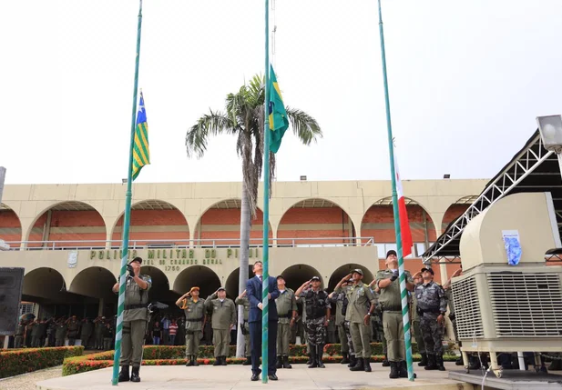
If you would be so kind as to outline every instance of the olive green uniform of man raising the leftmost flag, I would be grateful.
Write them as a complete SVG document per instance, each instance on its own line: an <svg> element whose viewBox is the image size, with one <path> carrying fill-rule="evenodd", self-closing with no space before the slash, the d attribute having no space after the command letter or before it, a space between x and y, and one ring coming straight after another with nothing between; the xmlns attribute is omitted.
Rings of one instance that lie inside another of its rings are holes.
<svg viewBox="0 0 562 390"><path fill-rule="evenodd" d="M138 275L147 283L143 290L135 279L127 275L125 282L125 310L123 311L123 337L119 365L139 367L142 359L142 346L148 322L148 290L152 279L148 275Z"/></svg>

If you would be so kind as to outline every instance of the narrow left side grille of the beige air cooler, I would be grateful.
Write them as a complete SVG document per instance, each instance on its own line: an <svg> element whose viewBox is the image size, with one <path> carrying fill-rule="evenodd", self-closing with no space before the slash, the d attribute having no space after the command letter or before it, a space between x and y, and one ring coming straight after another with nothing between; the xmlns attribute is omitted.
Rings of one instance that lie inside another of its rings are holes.
<svg viewBox="0 0 562 390"><path fill-rule="evenodd" d="M475 276L456 282L451 287L453 288L456 329L459 339L484 337Z"/></svg>

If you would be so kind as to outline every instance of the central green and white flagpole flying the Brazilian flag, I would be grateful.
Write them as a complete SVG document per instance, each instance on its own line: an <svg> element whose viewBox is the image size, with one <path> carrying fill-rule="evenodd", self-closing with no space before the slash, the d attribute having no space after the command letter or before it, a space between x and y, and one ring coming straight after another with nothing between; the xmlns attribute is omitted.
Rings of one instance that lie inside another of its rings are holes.
<svg viewBox="0 0 562 390"><path fill-rule="evenodd" d="M263 121L263 284L261 293L261 383L268 383L268 342L269 342L269 276L270 276L270 1L265 0L265 104Z"/></svg>

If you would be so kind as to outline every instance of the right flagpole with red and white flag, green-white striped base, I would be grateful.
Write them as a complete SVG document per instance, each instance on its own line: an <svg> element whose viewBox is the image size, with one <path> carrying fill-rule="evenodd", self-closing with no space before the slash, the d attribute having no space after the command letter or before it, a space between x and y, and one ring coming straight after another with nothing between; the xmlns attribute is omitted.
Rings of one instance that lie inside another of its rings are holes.
<svg viewBox="0 0 562 390"><path fill-rule="evenodd" d="M396 174L394 168L393 126L390 119L390 98L388 95L388 79L386 77L386 53L384 51L383 13L381 0L379 5L379 34L381 35L381 55L383 59L384 104L386 105L386 126L388 129L388 152L390 155L390 170L393 180L393 214L394 232L398 253L398 272L400 275L400 296L402 297L402 321L404 324L404 343L406 346L406 364L408 366L408 379L414 381L414 366L412 365L412 336L410 335L410 317L408 315L408 291L406 290L406 275L404 274L404 256L402 247L402 234L400 231L400 214L398 211L398 195L396 193Z"/></svg>

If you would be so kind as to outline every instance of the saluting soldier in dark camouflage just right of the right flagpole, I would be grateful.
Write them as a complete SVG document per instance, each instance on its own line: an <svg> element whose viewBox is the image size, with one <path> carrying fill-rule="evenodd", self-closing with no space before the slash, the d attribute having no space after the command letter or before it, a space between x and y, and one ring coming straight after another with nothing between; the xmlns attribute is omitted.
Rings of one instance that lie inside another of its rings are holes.
<svg viewBox="0 0 562 390"><path fill-rule="evenodd" d="M416 274L419 275L420 273ZM420 315L420 328L427 353L426 370L444 371L443 365L443 325L447 310L447 300L441 285L434 282L434 270L422 268L424 283L416 285L417 312Z"/></svg>

